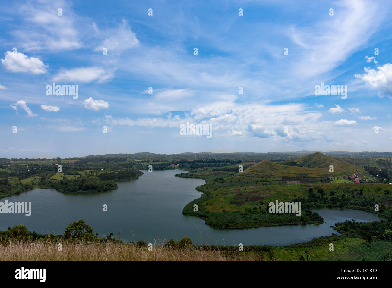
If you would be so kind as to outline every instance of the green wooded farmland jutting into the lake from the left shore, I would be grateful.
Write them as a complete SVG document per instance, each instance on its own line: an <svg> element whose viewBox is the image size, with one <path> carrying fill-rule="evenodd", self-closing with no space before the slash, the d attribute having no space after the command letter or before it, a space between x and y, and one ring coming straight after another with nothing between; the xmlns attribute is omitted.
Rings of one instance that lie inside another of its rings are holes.
<svg viewBox="0 0 392 288"><path fill-rule="evenodd" d="M115 181L138 179L143 174L132 168L133 164L123 163L126 160L106 158L103 163L96 163L85 159L26 159L25 164L8 160L0 165L0 198L34 188L53 188L66 194L115 190L118 188ZM62 166L61 172L58 165Z"/></svg>

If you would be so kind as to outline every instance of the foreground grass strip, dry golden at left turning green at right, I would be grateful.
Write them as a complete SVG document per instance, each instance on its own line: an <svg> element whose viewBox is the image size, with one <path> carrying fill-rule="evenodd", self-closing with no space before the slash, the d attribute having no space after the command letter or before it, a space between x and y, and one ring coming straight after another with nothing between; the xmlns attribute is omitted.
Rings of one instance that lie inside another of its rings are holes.
<svg viewBox="0 0 392 288"><path fill-rule="evenodd" d="M334 243L330 251L329 243ZM118 241L0 241L0 261L392 261L391 241L320 237L287 246L164 246Z"/></svg>

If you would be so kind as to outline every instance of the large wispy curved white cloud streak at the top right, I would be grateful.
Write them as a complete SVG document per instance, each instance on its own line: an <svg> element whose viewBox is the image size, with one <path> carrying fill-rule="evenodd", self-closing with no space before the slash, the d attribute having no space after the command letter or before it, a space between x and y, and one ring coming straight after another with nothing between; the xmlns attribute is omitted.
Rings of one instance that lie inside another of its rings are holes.
<svg viewBox="0 0 392 288"><path fill-rule="evenodd" d="M334 16L316 21L310 27L300 25L287 29L292 41L304 48L301 61L295 62L296 73L301 71L301 76L331 71L361 45L368 43L376 31L374 26L378 27L382 22L383 11L377 11L379 7L371 2L343 0L334 2L334 5ZM342 51L334 49L336 45Z"/></svg>

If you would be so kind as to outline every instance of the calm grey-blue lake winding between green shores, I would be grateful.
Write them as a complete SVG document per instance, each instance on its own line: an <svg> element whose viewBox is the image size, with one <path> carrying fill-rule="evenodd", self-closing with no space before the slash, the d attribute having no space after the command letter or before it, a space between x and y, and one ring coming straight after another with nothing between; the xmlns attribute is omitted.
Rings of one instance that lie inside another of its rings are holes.
<svg viewBox="0 0 392 288"><path fill-rule="evenodd" d="M205 225L195 216L182 215L183 207L201 196L195 187L205 183L201 179L178 178L183 170L154 171L137 180L120 182L118 189L87 195L65 195L54 189L35 189L20 195L0 199L0 202L31 202L31 216L0 214L0 230L23 224L30 231L63 234L65 228L84 219L98 237L113 232L124 241L154 239L179 240L190 237L193 243L219 245L285 245L308 241L334 232L330 226L346 219L357 222L378 220L377 215L350 209L316 209L323 218L321 225L298 225L251 228L245 230L218 230ZM108 211L103 212L107 204ZM132 236L132 232L134 237Z"/></svg>

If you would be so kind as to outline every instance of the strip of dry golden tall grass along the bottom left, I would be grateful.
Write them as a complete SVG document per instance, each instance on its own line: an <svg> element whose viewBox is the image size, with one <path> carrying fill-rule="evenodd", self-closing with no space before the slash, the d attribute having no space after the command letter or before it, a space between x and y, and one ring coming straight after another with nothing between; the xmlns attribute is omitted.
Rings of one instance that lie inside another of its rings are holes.
<svg viewBox="0 0 392 288"><path fill-rule="evenodd" d="M225 253L194 246L178 248L109 242L69 241L0 242L0 261L256 261L243 252Z"/></svg>

